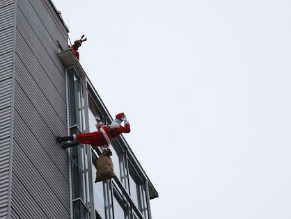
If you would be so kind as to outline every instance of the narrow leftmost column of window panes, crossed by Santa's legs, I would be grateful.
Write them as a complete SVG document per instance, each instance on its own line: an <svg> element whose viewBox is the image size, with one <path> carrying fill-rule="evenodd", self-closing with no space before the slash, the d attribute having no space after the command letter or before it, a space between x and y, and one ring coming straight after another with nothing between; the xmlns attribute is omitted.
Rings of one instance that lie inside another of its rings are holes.
<svg viewBox="0 0 291 219"><path fill-rule="evenodd" d="M83 131L84 99L81 92L81 80L77 73L68 70L68 107L70 135ZM72 215L74 219L86 219L88 216L88 197L86 176L86 153L84 145L70 149Z"/></svg>

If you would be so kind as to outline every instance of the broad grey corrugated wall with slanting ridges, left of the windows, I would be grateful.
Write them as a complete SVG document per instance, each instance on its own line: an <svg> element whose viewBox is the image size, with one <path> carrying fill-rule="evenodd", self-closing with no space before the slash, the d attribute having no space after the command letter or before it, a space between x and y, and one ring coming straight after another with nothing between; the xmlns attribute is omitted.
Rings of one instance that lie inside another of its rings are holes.
<svg viewBox="0 0 291 219"><path fill-rule="evenodd" d="M17 0L12 218L70 218L65 69L67 30L49 0Z"/></svg>

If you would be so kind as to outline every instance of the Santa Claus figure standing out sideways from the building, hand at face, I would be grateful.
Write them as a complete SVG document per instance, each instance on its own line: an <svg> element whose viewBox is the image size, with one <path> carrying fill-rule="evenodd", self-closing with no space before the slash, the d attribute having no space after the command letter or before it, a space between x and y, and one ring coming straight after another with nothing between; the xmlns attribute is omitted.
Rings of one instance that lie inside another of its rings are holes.
<svg viewBox="0 0 291 219"><path fill-rule="evenodd" d="M102 124L98 116L96 117L96 120L96 127L98 131L90 133L77 133L72 136L64 137L58 136L56 137L56 140L58 143L61 143L63 149L77 146L80 143L97 147L109 147L113 138L117 138L121 133L130 132L130 124L124 113L118 113L116 115L116 119L108 127ZM121 125L121 122L124 122L124 127ZM68 143L67 141L69 140L72 141L72 143Z"/></svg>

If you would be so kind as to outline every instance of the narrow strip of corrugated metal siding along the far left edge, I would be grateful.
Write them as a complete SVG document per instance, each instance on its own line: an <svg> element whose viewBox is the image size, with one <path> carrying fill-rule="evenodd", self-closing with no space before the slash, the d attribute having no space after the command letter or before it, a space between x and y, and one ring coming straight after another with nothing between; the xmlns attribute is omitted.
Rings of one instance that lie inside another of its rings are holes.
<svg viewBox="0 0 291 219"><path fill-rule="evenodd" d="M0 1L0 218L8 217L14 1Z"/></svg>

